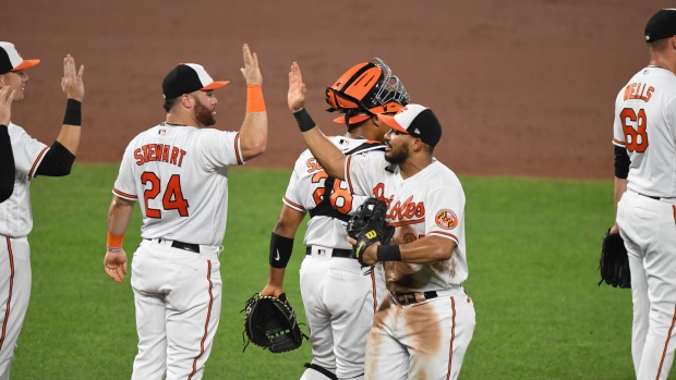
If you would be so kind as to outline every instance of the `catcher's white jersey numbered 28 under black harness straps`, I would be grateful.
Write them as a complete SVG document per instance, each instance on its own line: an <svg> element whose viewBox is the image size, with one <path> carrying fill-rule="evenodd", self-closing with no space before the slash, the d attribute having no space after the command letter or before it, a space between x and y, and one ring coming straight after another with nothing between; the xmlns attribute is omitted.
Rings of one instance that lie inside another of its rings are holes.
<svg viewBox="0 0 676 380"><path fill-rule="evenodd" d="M366 139L350 138L345 136L333 136L329 140L340 149L348 152L362 144ZM377 151L376 156L383 156L382 146L374 146L361 150L361 155ZM306 212L314 209L322 201L324 195L324 181L328 174L322 169L319 162L312 156L310 150L303 151L295 161L287 193L283 197L285 205L298 211ZM334 194L331 195L331 206L341 213L353 213L357 208L364 203L367 196L353 196L343 181L334 183ZM348 243L346 232L347 222L336 218L316 216L307 222L307 230L303 243L306 246L321 245L324 247L352 249Z"/></svg>

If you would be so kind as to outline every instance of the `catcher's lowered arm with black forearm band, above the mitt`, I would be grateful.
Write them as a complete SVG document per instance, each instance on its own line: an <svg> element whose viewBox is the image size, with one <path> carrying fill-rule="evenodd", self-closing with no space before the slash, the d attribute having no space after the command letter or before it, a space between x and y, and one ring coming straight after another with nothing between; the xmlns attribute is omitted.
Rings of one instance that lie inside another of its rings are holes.
<svg viewBox="0 0 676 380"><path fill-rule="evenodd" d="M270 238L270 271L267 284L261 291L261 295L271 295L278 298L283 293L283 275L287 262L291 257L293 237L303 218L305 218L305 212L294 210L287 205L281 207L281 213Z"/></svg>

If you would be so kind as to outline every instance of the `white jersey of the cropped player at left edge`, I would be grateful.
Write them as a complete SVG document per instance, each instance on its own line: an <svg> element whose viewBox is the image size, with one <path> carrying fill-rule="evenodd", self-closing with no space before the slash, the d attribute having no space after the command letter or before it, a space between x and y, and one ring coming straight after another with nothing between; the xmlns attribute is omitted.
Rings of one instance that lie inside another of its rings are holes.
<svg viewBox="0 0 676 380"><path fill-rule="evenodd" d="M27 236L33 230L31 180L35 177L35 171L49 147L11 122L8 131L14 152L16 177L12 196L0 204L0 235L22 237Z"/></svg>

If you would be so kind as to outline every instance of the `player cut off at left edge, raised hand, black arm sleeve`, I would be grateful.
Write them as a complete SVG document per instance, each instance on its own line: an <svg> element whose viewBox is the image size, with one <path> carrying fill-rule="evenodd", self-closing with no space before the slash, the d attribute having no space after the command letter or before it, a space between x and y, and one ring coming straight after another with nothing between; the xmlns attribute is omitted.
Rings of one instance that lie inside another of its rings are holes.
<svg viewBox="0 0 676 380"><path fill-rule="evenodd" d="M7 93L12 91L13 101L23 101L28 81L24 70L38 63L39 60L22 59L13 44L0 42L0 98L7 99ZM71 171L80 145L83 71L83 66L75 71L75 61L70 54L63 59L61 87L68 105L61 132L51 147L32 138L24 128L9 121L9 112L4 120L0 119L0 123L8 122L15 166L13 192L0 204L0 379L10 377L16 339L31 298L31 247L27 240L33 229L31 181L38 175L60 176ZM8 105L0 108L9 111Z"/></svg>

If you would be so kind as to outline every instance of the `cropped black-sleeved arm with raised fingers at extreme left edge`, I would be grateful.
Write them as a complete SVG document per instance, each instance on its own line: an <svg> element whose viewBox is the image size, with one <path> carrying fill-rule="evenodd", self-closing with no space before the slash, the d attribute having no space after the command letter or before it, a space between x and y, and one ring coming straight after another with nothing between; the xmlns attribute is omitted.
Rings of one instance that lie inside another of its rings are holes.
<svg viewBox="0 0 676 380"><path fill-rule="evenodd" d="M10 87L0 88L0 204L14 192L14 152L7 126L10 124L14 91Z"/></svg>

